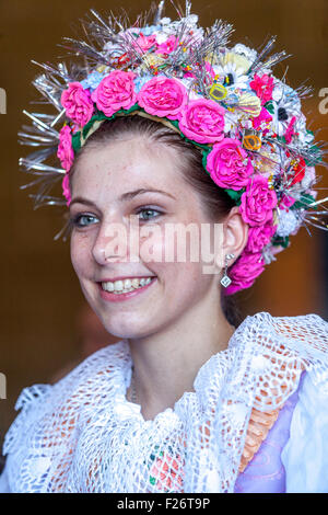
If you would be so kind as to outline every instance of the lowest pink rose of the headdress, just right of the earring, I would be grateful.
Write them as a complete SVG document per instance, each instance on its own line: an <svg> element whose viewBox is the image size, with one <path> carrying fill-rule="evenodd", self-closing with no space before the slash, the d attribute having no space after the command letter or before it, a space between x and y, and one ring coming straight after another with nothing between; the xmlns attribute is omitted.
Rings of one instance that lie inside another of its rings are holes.
<svg viewBox="0 0 328 515"><path fill-rule="evenodd" d="M249 253L244 250L229 272L232 283L225 288L225 295L232 295L241 289L249 288L263 270L265 261L261 253Z"/></svg>

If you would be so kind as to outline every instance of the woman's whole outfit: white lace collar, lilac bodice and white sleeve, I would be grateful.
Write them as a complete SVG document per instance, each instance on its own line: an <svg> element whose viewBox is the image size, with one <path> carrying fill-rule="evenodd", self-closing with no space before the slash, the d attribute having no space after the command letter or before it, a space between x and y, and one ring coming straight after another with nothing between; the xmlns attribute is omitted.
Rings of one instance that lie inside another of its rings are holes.
<svg viewBox="0 0 328 515"><path fill-rule="evenodd" d="M0 492L328 492L328 323L259 312L153 420L122 340L25 388Z"/></svg>

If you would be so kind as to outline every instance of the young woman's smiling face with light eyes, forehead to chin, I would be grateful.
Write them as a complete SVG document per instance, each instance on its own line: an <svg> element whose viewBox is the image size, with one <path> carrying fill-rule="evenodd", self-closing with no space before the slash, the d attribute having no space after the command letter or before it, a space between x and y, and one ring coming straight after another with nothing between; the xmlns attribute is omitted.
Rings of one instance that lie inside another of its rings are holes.
<svg viewBox="0 0 328 515"><path fill-rule="evenodd" d="M203 263L192 262L188 251L178 262L177 239L165 238L167 224L209 224L199 195L178 171L179 159L176 150L134 136L89 146L80 156L71 260L86 300L118 337L154 334L209 296L219 298ZM142 286L142 277L151 282ZM131 291L116 293L122 287Z"/></svg>

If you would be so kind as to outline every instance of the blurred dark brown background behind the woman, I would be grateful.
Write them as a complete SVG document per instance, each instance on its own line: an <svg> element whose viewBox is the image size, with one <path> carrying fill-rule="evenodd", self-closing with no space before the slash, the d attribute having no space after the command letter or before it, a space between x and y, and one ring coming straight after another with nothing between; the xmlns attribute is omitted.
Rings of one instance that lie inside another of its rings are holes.
<svg viewBox="0 0 328 515"><path fill-rule="evenodd" d="M181 1L183 3L183 1ZM166 15L174 15L167 1ZM26 192L19 190L27 176L19 172L17 159L28 149L17 144L16 134L26 123L23 108L38 98L31 85L40 69L31 64L54 62L65 50L56 46L62 36L73 36L90 8L101 13L124 7L131 21L149 2L139 0L0 0L0 87L7 92L7 114L0 115L1 145L1 347L0 373L7 377L7 399L0 399L0 444L13 420L14 402L25 386L56 380L90 352L110 342L87 311L70 264L69 242L54 241L62 227L57 208L32 209ZM328 114L319 113L319 90L328 88L327 0L194 1L200 23L215 18L234 24L233 42L258 47L268 35L277 35L277 52L293 57L278 65L282 77L298 87L308 78L314 96L304 101L312 129L325 127ZM81 34L81 33L80 33ZM248 36L248 37L246 37ZM320 187L328 185L328 171ZM30 193L30 190L27 190ZM32 193L32 192L31 192ZM320 196L327 195L323 190ZM326 236L326 238L325 238ZM255 286L241 295L243 313L269 311L273 316L315 312L328 319L328 233L302 228L292 244L278 255ZM1 453L0 453L1 454Z"/></svg>

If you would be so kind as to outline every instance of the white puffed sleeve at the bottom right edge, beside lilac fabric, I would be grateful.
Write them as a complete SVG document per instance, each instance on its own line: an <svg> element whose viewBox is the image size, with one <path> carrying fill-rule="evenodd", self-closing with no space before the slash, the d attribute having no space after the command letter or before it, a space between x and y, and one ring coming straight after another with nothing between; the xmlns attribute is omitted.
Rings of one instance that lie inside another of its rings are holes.
<svg viewBox="0 0 328 515"><path fill-rule="evenodd" d="M286 493L328 492L328 378L317 386L306 374L281 459Z"/></svg>

